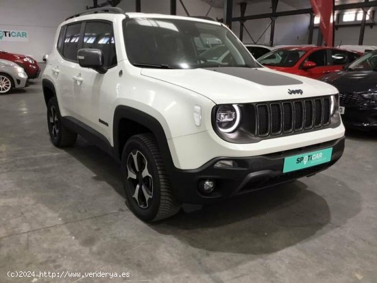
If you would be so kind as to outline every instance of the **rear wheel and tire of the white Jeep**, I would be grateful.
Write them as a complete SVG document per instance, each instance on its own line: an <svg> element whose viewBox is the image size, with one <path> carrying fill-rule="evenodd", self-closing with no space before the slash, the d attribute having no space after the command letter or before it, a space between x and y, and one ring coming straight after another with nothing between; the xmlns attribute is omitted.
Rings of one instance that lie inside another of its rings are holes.
<svg viewBox="0 0 377 283"><path fill-rule="evenodd" d="M56 97L52 97L47 103L47 123L53 145L56 147L71 147L75 144L77 134L64 125Z"/></svg>

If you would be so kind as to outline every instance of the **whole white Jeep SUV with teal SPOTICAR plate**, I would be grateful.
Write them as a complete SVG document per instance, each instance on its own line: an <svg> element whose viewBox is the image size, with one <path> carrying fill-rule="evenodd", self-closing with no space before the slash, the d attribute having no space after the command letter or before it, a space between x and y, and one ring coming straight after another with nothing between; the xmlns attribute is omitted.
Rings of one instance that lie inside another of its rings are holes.
<svg viewBox="0 0 377 283"><path fill-rule="evenodd" d="M344 149L336 88L260 66L215 21L119 8L72 16L42 85L52 143L80 134L120 160L144 221L313 175Z"/></svg>

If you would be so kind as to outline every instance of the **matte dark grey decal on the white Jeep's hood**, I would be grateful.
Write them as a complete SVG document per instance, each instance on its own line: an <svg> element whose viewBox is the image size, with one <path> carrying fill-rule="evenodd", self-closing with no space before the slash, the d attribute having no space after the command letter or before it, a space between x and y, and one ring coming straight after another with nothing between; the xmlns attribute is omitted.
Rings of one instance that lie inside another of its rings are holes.
<svg viewBox="0 0 377 283"><path fill-rule="evenodd" d="M298 79L293 79L286 75L263 71L263 69L251 69L241 67L219 67L205 68L208 71L215 71L226 75L246 79L247 81L261 84L263 86L291 86L293 84L303 84Z"/></svg>

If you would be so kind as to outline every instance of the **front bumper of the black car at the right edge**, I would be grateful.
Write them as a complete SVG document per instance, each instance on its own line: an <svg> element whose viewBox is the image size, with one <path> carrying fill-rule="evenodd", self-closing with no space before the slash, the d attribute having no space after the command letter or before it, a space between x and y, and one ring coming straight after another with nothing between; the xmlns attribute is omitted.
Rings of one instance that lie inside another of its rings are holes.
<svg viewBox="0 0 377 283"><path fill-rule="evenodd" d="M377 130L377 102L369 101L356 107L345 106L341 119L349 129Z"/></svg>

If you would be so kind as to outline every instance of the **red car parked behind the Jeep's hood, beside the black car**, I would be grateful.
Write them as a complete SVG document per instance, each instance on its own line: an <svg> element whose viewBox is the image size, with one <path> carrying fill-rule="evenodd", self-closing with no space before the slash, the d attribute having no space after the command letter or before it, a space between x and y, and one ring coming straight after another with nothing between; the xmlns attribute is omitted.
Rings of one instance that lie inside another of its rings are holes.
<svg viewBox="0 0 377 283"><path fill-rule="evenodd" d="M332 47L284 47L258 58L258 62L276 71L319 79L327 73L342 71L363 53Z"/></svg>

